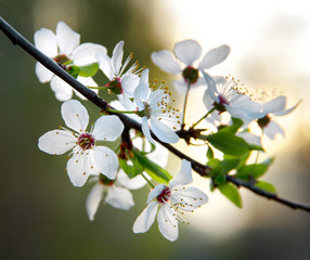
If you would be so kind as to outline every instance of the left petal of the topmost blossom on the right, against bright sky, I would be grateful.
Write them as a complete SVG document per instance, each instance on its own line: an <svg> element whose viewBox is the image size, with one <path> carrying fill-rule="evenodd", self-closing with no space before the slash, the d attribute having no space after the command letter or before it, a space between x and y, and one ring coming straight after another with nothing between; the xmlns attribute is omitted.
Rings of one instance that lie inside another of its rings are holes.
<svg viewBox="0 0 310 260"><path fill-rule="evenodd" d="M173 54L167 50L153 52L151 54L151 58L153 63L155 63L164 72L175 75L182 73L180 64L176 61Z"/></svg>

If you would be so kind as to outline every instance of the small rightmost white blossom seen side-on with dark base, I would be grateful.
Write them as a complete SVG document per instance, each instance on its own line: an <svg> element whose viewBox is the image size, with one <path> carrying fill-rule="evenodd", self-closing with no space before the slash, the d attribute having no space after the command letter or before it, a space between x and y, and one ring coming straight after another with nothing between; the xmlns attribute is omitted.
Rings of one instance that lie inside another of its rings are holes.
<svg viewBox="0 0 310 260"><path fill-rule="evenodd" d="M270 140L273 140L276 133L284 136L283 128L273 119L275 116L285 116L293 112L300 101L290 108L286 107L286 96L280 95L267 103L261 105L261 113L263 117L257 120L258 126L262 129L263 134L266 134Z"/></svg>

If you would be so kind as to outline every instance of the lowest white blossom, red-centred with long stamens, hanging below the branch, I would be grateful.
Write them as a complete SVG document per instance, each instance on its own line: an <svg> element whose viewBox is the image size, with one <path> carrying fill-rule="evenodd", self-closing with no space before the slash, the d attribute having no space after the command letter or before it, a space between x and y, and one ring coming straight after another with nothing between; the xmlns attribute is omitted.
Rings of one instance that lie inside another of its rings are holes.
<svg viewBox="0 0 310 260"><path fill-rule="evenodd" d="M182 217L183 211L193 211L208 200L207 195L201 190L184 186L192 181L191 162L183 159L181 171L169 185L158 184L148 194L147 206L135 220L133 232L147 232L158 211L157 222L160 233L168 240L178 239L178 221L188 223Z"/></svg>

